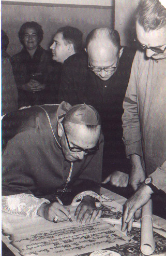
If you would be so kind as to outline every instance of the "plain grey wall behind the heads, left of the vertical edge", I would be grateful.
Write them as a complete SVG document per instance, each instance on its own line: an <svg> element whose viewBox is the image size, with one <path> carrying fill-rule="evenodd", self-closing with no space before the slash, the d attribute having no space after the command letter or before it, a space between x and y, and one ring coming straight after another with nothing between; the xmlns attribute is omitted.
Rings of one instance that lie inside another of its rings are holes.
<svg viewBox="0 0 166 256"><path fill-rule="evenodd" d="M44 37L41 46L44 49L49 49L56 30L64 25L76 26L83 32L84 39L94 28L114 26L114 6L111 5L103 7L56 4L46 6L4 2L2 2L2 29L9 37L10 43L7 51L10 56L22 48L18 31L26 21L36 21L42 25Z"/></svg>

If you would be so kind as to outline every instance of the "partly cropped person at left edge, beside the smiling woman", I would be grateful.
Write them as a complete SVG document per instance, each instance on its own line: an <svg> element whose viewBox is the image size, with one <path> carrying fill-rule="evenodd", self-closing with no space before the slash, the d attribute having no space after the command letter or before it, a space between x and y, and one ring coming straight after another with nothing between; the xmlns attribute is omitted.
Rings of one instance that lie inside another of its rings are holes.
<svg viewBox="0 0 166 256"><path fill-rule="evenodd" d="M18 90L14 80L12 67L9 61L10 56L6 52L9 44L9 38L5 31L1 30L1 57L2 57L2 73L1 73L1 114L18 109Z"/></svg>

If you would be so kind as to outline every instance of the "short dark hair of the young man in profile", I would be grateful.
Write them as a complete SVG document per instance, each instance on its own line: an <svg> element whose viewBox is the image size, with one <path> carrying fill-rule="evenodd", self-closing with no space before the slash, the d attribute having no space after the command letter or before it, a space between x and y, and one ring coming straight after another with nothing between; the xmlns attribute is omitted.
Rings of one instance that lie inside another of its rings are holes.
<svg viewBox="0 0 166 256"><path fill-rule="evenodd" d="M62 33L64 39L69 44L73 44L75 52L82 50L82 32L79 29L72 26L63 26L63 28L59 28L56 31L57 33Z"/></svg>

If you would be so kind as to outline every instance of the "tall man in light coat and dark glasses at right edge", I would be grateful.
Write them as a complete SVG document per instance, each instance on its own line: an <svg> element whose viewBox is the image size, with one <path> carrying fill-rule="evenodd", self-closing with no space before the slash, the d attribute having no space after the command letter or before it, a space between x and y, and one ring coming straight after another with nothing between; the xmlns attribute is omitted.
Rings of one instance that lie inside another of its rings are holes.
<svg viewBox="0 0 166 256"><path fill-rule="evenodd" d="M165 6L166 7L166 6ZM131 230L152 197L155 214L166 218L166 8L141 0L137 8L138 50L124 99L123 140L135 193L124 206L122 230Z"/></svg>

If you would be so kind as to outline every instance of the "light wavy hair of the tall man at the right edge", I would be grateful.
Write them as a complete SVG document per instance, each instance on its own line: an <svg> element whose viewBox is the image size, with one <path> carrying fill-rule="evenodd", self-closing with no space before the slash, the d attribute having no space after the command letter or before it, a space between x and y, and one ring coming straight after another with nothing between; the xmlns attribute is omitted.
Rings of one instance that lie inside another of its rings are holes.
<svg viewBox="0 0 166 256"><path fill-rule="evenodd" d="M166 9L158 0L141 0L135 11L135 21L145 31L163 28L166 26Z"/></svg>

